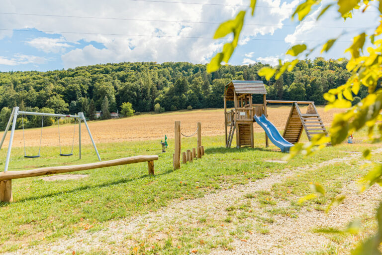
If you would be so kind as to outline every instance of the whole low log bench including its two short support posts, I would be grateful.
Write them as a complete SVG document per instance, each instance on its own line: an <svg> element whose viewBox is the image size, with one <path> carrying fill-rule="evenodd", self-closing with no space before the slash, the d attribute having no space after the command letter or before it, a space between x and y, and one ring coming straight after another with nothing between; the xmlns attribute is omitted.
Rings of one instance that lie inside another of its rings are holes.
<svg viewBox="0 0 382 255"><path fill-rule="evenodd" d="M127 165L127 164L139 163L139 162L147 162L149 174L153 175L154 160L158 160L158 155L124 157L119 159L95 162L90 164L82 164L82 165L52 166L52 167L43 167L43 168L31 169L31 170L1 172L0 173L0 202L12 202L13 200L12 179L41 176L41 175L50 175L50 174L57 174L57 173L76 172L76 171L83 171L83 170L116 166L116 165Z"/></svg>

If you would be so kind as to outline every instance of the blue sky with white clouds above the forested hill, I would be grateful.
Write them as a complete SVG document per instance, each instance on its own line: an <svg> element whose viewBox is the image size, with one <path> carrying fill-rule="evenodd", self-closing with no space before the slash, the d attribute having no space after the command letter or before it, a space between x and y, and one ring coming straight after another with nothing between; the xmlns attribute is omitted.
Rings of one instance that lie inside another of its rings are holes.
<svg viewBox="0 0 382 255"><path fill-rule="evenodd" d="M205 64L227 39L213 40L218 25L250 0L1 0L0 71L48 71L84 65L155 61ZM356 11L344 21L330 0L314 7L302 22L290 19L302 0L257 0L229 64L276 65L291 60L294 44L316 47L309 58L349 57L354 35L371 33L378 8ZM372 25L373 24L373 25ZM340 36L341 35L341 36ZM339 39L323 55L325 40Z"/></svg>

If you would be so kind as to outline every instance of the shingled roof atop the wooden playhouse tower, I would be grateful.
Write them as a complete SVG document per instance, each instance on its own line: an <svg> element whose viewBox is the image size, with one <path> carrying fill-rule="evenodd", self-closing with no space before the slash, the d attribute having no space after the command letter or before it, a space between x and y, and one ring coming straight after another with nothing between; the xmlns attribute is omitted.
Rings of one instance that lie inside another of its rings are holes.
<svg viewBox="0 0 382 255"><path fill-rule="evenodd" d="M267 94L263 81L230 81L225 85L226 100L233 101L234 94Z"/></svg>

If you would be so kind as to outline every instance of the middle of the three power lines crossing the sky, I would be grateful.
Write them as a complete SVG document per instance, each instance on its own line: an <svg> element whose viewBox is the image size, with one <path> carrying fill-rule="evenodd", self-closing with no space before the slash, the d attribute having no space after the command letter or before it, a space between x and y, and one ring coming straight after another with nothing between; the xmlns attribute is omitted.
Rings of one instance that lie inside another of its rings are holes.
<svg viewBox="0 0 382 255"><path fill-rule="evenodd" d="M113 18L113 17L95 17L95 16L73 16L73 15L55 15L55 14L38 14L38 13L17 13L17 12L0 12L7 15L26 15L26 16L46 16L46 17L65 17L65 18L88 18L88 19L109 19L109 20L131 20L131 21L148 21L148 22L172 22L172 23L198 23L198 24L220 24L217 21L191 21L191 20L163 20L163 19L140 19L140 18ZM245 24L250 26L278 26L279 24ZM296 27L296 25L282 25L283 27ZM348 27L348 26L314 26L322 28L359 28L371 29L374 27Z"/></svg>

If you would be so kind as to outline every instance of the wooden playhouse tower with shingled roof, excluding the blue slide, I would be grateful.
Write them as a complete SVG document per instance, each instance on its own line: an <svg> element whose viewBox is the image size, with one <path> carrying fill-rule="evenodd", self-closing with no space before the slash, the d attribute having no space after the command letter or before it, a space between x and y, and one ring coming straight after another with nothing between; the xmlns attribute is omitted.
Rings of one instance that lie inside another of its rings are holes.
<svg viewBox="0 0 382 255"><path fill-rule="evenodd" d="M253 104L252 95L263 95L263 104ZM231 81L224 90L225 144L231 147L236 130L236 146L251 146L253 142L253 116L267 117L267 91L263 81ZM234 102L234 109L227 112L227 101ZM228 127L229 131L228 131ZM268 137L266 136L268 147Z"/></svg>

